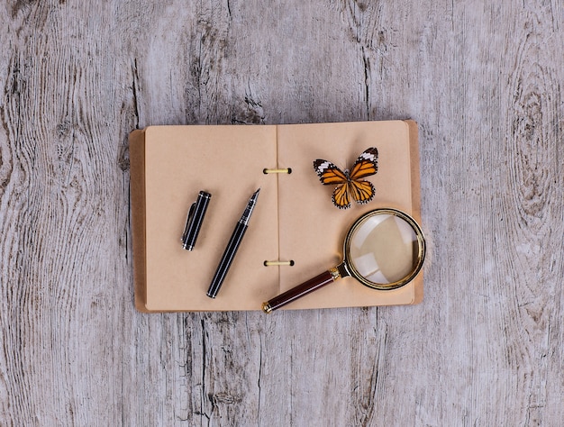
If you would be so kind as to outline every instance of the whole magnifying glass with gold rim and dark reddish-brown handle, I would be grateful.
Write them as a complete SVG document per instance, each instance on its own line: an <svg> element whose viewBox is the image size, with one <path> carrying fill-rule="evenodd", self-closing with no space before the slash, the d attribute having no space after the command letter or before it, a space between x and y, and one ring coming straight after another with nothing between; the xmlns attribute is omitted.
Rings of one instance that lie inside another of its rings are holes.
<svg viewBox="0 0 564 427"><path fill-rule="evenodd" d="M376 209L352 224L343 254L337 267L275 296L262 304L262 310L271 313L341 277L354 277L362 285L380 290L405 286L423 267L425 239L419 224L407 213Z"/></svg>

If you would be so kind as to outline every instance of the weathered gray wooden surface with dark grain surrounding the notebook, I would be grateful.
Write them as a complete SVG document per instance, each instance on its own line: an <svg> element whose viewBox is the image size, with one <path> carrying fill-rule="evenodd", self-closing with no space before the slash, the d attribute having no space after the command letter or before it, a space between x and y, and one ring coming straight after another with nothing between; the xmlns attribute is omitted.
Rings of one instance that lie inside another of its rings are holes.
<svg viewBox="0 0 564 427"><path fill-rule="evenodd" d="M0 5L0 424L562 425L564 7ZM420 125L423 304L133 308L128 133Z"/></svg>

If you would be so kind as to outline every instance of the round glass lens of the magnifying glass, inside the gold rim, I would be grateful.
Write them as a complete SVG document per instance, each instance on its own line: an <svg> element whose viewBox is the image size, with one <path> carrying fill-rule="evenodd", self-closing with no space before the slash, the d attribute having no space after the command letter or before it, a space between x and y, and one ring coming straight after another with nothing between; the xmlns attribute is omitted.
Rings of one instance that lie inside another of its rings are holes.
<svg viewBox="0 0 564 427"><path fill-rule="evenodd" d="M414 227L389 213L368 216L350 232L349 266L368 285L389 285L409 277L419 262Z"/></svg>

